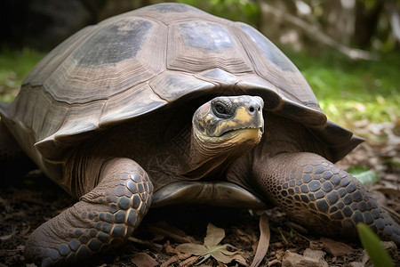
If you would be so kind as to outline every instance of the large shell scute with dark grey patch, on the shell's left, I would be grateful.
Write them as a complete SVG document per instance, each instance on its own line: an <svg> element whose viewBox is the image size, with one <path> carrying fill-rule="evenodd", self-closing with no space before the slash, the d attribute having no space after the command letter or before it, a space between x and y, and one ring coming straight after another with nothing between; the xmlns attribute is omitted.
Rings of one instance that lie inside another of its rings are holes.
<svg viewBox="0 0 400 267"><path fill-rule="evenodd" d="M137 17L102 25L44 81L45 90L55 101L83 104L148 81L164 71L163 28Z"/></svg>

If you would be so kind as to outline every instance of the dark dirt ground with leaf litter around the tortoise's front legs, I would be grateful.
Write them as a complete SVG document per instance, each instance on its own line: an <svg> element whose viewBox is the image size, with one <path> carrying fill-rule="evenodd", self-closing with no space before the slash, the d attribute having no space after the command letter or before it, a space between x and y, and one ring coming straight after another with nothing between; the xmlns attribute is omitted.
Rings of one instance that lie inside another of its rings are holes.
<svg viewBox="0 0 400 267"><path fill-rule="evenodd" d="M358 125L359 133L367 137L347 158L338 164L367 166L379 174L380 182L369 184L383 206L394 215L400 212L400 125ZM23 249L28 235L41 223L73 205L74 200L50 182L38 170L22 175L3 174L0 188L0 267L35 266L24 262ZM7 180L4 182L4 180ZM372 266L357 240L318 237L292 223L278 208L267 212L271 231L268 253L260 266L295 266L307 261L309 266ZM228 266L252 263L260 237L259 214L249 210L227 208L169 207L149 212L134 239L116 251L102 254L84 266L191 266L201 259L182 255L176 247L196 240L202 244L208 223L225 230L221 244L230 244L243 253L246 263L232 262ZM392 242L385 243L395 266L400 266L399 250ZM310 253L312 254L310 256ZM313 256L315 255L315 256ZM288 265L292 263L292 265ZM27 265L26 265L27 264ZM326 265L327 264L327 265ZM227 266L212 257L199 266ZM306 265L307 266L307 265Z"/></svg>

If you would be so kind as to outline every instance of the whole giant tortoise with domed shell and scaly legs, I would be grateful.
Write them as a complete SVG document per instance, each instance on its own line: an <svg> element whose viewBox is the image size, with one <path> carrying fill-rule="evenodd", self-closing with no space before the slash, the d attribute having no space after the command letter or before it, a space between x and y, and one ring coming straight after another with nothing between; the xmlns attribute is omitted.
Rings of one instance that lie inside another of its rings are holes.
<svg viewBox="0 0 400 267"><path fill-rule="evenodd" d="M242 22L187 4L126 12L70 36L0 105L0 162L20 150L79 199L28 239L29 261L83 263L150 207L280 206L324 235L400 227L334 165L363 139L328 120L300 71Z"/></svg>

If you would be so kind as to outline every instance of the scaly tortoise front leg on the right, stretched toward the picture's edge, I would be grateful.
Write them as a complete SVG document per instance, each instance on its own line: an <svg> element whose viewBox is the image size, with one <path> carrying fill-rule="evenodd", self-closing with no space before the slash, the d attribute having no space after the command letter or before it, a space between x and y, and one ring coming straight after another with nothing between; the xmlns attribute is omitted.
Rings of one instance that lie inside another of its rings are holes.
<svg viewBox="0 0 400 267"><path fill-rule="evenodd" d="M382 239L400 243L400 227L355 177L313 153L255 159L254 175L269 200L296 221L326 235L356 236L366 223Z"/></svg>

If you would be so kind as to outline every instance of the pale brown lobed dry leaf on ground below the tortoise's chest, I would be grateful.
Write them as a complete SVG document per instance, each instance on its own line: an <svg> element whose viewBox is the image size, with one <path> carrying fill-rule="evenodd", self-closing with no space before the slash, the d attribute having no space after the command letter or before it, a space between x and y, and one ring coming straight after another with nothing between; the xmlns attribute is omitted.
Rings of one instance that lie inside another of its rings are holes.
<svg viewBox="0 0 400 267"><path fill-rule="evenodd" d="M176 247L181 253L199 255L205 257L212 256L219 263L231 263L236 261L247 266L244 253L229 244L220 245L220 241L225 237L225 231L212 223L207 225L207 233L204 244L185 243Z"/></svg>

